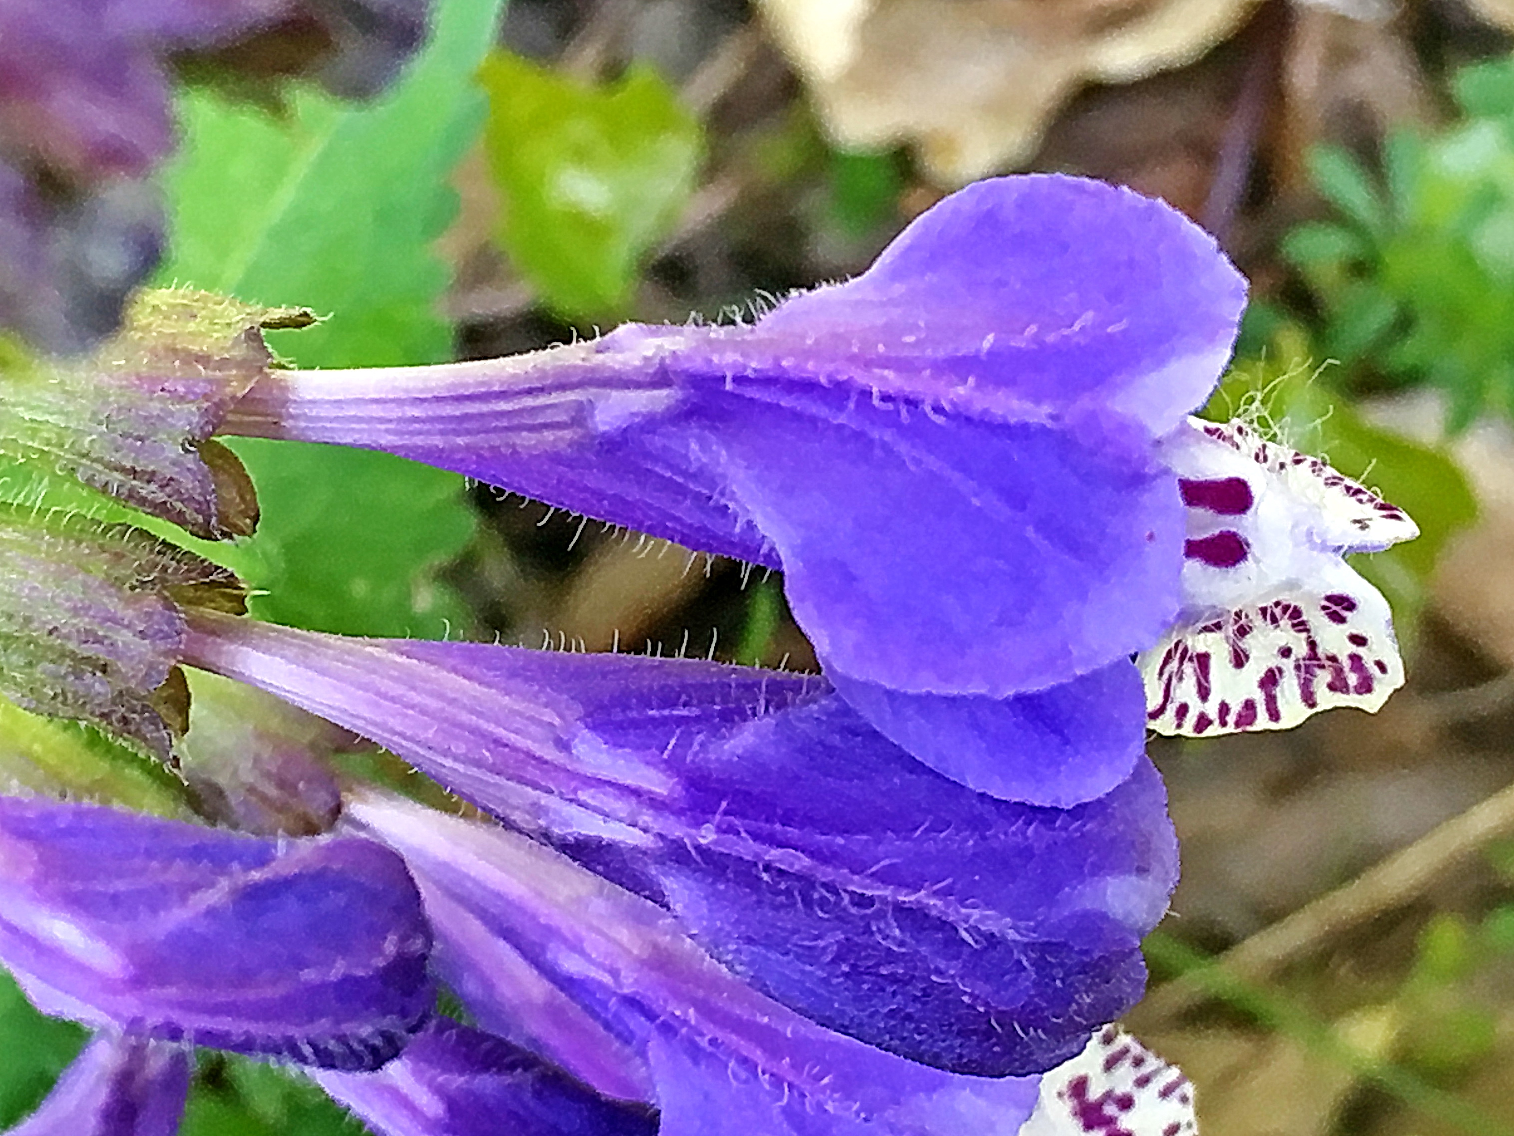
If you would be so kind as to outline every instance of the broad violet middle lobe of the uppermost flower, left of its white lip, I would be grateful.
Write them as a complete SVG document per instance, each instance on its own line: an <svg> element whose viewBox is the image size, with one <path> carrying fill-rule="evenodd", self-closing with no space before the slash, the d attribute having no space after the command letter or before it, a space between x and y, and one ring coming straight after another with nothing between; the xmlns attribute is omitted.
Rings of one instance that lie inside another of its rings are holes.
<svg viewBox="0 0 1514 1136"><path fill-rule="evenodd" d="M1004 697L1128 656L1178 610L1182 509L1126 429L728 409L731 495L818 654L899 691Z"/></svg>

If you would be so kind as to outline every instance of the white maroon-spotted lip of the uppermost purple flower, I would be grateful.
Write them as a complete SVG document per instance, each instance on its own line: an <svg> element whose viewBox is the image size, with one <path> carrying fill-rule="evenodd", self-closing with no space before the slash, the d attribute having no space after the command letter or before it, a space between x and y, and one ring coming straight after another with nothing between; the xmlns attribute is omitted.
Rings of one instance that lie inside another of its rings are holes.
<svg viewBox="0 0 1514 1136"><path fill-rule="evenodd" d="M1343 559L1419 535L1403 510L1249 426L1163 444L1187 504L1182 612L1137 657L1148 724L1213 736L1376 710L1403 683L1387 600Z"/></svg>

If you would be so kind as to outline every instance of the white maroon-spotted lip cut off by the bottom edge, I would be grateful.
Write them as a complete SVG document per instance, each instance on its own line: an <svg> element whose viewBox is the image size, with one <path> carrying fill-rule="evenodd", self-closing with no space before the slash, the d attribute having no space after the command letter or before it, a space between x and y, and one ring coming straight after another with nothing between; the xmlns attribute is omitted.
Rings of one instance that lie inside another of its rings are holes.
<svg viewBox="0 0 1514 1136"><path fill-rule="evenodd" d="M1042 1077L1019 1136L1198 1136L1193 1085L1116 1025Z"/></svg>

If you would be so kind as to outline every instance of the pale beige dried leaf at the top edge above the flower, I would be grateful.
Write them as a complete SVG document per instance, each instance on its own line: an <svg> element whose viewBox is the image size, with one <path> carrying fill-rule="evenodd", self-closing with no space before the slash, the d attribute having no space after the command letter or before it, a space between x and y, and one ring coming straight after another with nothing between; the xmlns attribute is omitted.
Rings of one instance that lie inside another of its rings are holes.
<svg viewBox="0 0 1514 1136"><path fill-rule="evenodd" d="M960 185L1025 162L1087 82L1187 64L1258 0L762 0L837 144Z"/></svg>

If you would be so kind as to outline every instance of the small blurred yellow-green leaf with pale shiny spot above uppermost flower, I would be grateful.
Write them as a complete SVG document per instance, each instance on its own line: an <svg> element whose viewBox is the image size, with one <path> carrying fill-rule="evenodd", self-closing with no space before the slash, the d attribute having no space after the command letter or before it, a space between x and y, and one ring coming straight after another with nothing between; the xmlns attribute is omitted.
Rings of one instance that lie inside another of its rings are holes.
<svg viewBox="0 0 1514 1136"><path fill-rule="evenodd" d="M693 189L699 123L645 67L595 89L495 51L478 77L500 247L559 315L624 314Z"/></svg>

